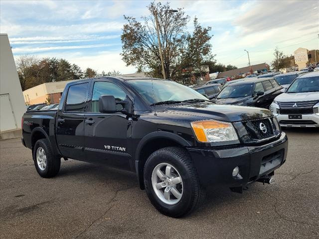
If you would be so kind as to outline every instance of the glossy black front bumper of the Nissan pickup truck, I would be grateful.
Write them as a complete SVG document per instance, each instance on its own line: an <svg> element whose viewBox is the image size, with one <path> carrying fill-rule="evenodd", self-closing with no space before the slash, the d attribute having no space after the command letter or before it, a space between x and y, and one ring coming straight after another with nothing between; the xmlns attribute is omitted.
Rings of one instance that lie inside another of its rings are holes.
<svg viewBox="0 0 319 239"><path fill-rule="evenodd" d="M244 187L279 168L287 157L288 138L284 132L275 141L259 146L228 148L187 148L204 186ZM238 166L240 177L233 177Z"/></svg>

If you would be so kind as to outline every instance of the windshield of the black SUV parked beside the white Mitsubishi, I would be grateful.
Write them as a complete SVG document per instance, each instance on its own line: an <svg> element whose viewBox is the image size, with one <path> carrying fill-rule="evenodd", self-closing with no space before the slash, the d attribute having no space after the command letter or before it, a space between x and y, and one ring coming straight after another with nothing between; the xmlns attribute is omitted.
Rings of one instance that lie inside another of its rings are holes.
<svg viewBox="0 0 319 239"><path fill-rule="evenodd" d="M253 91L253 84L245 85L228 85L221 90L217 99L226 99L226 98L239 98L245 96L251 96Z"/></svg>

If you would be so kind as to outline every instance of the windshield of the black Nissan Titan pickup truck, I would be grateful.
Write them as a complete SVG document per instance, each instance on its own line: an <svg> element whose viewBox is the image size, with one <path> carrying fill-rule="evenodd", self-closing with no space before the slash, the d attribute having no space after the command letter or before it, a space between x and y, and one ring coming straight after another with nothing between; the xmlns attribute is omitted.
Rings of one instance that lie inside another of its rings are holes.
<svg viewBox="0 0 319 239"><path fill-rule="evenodd" d="M153 80L153 87L152 80L128 80L126 82L131 85L149 105L165 101L185 101L190 99L208 100L188 86L173 81Z"/></svg>

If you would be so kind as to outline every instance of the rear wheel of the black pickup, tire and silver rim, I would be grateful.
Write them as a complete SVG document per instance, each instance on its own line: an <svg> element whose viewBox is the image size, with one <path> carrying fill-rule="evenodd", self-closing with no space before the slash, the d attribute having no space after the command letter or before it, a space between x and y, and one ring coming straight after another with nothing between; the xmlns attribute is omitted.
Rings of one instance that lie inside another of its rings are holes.
<svg viewBox="0 0 319 239"><path fill-rule="evenodd" d="M36 171L43 178L54 177L60 170L61 158L52 153L47 139L35 142L33 161Z"/></svg>

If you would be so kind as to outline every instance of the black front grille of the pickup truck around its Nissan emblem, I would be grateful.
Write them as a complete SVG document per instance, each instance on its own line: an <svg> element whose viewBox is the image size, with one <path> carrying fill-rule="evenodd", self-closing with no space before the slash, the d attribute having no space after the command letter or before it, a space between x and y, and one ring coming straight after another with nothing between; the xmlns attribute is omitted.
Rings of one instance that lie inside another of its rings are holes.
<svg viewBox="0 0 319 239"><path fill-rule="evenodd" d="M243 122L250 139L261 140L275 136L274 126L271 119L255 119ZM266 126L266 130L261 127Z"/></svg>

